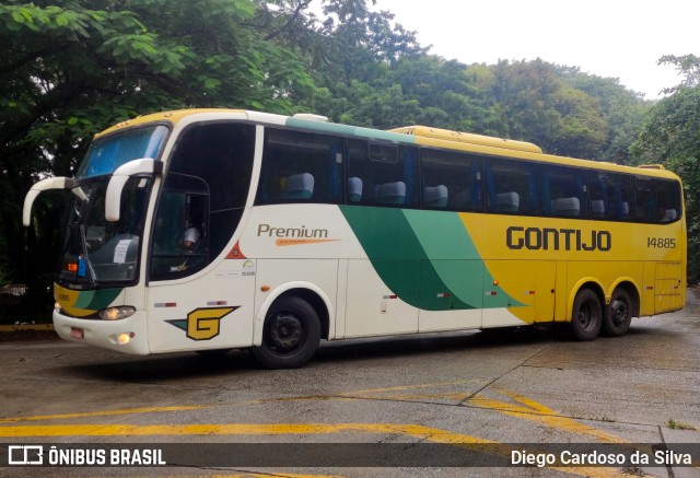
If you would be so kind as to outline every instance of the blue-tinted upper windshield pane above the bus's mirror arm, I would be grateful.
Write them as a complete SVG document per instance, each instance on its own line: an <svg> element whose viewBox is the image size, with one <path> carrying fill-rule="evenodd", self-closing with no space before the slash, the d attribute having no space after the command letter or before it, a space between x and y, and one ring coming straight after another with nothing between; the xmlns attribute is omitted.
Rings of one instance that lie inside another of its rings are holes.
<svg viewBox="0 0 700 478"><path fill-rule="evenodd" d="M130 129L95 140L78 170L75 178L85 179L112 174L117 167L131 160L141 158L158 160L167 131L167 127L156 125Z"/></svg>

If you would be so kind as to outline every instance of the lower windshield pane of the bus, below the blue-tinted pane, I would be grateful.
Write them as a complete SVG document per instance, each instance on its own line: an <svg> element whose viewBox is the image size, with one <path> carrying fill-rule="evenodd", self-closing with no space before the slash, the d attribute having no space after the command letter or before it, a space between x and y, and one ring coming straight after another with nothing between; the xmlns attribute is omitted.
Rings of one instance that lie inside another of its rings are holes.
<svg viewBox="0 0 700 478"><path fill-rule="evenodd" d="M137 279L139 244L151 189L151 179L130 178L121 195L121 218L105 220L108 177L84 182L77 188L69 210L59 282L96 288Z"/></svg>

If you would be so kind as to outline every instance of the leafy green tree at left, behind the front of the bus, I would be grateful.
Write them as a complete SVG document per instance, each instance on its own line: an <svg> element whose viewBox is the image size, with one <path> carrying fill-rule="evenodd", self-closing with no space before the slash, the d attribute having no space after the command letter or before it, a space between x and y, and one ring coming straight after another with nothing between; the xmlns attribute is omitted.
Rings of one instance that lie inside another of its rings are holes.
<svg viewBox="0 0 700 478"><path fill-rule="evenodd" d="M23 197L40 176L70 175L96 131L178 107L292 110L293 98L313 82L293 51L268 39L276 32L260 28L260 3L0 5L0 280L32 279L52 268L47 257L54 257L56 237L46 228L51 221L43 217L25 238ZM43 200L37 213L55 214ZM24 257L27 244L33 250Z"/></svg>

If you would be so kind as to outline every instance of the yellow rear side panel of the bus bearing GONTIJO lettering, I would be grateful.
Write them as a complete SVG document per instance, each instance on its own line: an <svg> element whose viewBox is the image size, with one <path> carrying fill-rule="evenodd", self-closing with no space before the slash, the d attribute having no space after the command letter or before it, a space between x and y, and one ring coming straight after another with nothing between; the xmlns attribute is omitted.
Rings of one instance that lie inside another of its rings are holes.
<svg viewBox="0 0 700 478"><path fill-rule="evenodd" d="M575 294L586 282L597 284L606 301L618 284L631 283L642 300L642 315L679 308L677 304L685 300L682 285L673 301L667 293L672 287L678 285L679 278L685 278L684 247L680 245L686 240L681 221L655 225L524 215L491 214L487 218L476 213L459 213L459 218L491 277L511 298L525 305L509 307L525 323L552 318L570 320ZM485 226L486 219L488 228ZM513 226L518 228L517 232L512 232ZM513 242L524 241L530 228L550 231L547 233L548 248L544 246L544 235L539 248L528 249L522 243L515 244L520 248L513 247ZM631 228L634 228L634 234L631 234ZM558 249L555 248L553 231L558 232ZM581 247L574 231L581 231ZM583 245L590 246L592 235L602 231L609 234L609 250L584 250ZM650 247L650 237L674 240L677 246ZM649 264L654 267L646 267ZM658 281L656 276L660 272L655 265L666 267L662 270L677 269L678 273Z"/></svg>

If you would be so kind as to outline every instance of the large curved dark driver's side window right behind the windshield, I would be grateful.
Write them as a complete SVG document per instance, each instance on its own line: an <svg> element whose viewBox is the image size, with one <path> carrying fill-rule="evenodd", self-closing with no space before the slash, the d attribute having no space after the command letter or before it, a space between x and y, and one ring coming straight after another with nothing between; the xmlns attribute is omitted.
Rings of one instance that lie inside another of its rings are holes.
<svg viewBox="0 0 700 478"><path fill-rule="evenodd" d="M254 148L252 125L208 123L183 132L159 199L151 279L201 269L229 244L248 196ZM196 247L184 245L187 235Z"/></svg>

